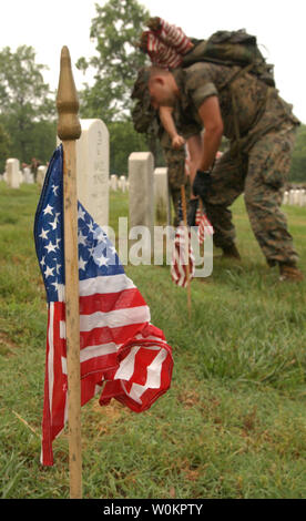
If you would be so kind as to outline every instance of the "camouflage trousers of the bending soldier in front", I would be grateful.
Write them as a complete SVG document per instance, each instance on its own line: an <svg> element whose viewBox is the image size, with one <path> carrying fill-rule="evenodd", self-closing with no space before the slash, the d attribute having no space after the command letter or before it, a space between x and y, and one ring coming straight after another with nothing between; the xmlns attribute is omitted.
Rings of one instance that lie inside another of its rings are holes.
<svg viewBox="0 0 306 521"><path fill-rule="evenodd" d="M295 130L273 131L262 136L247 154L226 152L212 173L206 211L214 226L214 244L224 248L235 241L228 207L244 192L254 235L269 265L296 262L298 256L280 211L284 184L290 168Z"/></svg>

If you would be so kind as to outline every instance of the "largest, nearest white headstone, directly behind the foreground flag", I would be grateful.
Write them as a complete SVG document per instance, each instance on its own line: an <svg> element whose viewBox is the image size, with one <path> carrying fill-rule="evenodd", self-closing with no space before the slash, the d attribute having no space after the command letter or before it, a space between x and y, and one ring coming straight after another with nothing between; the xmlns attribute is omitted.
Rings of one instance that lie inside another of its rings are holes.
<svg viewBox="0 0 306 521"><path fill-rule="evenodd" d="M109 225L110 136L102 120L81 120L76 141L78 198L100 226Z"/></svg>

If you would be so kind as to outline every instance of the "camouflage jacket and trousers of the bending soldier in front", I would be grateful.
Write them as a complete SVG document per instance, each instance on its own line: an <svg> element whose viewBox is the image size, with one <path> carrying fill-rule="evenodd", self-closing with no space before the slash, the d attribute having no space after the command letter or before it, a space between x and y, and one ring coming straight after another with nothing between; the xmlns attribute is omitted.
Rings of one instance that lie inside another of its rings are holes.
<svg viewBox="0 0 306 521"><path fill-rule="evenodd" d="M205 99L217 95L230 150L213 168L206 198L214 243L221 248L234 244L228 208L244 192L249 222L267 263L295 263L297 253L280 204L299 122L276 89L241 71L238 67L214 63L173 71L181 92L183 135L184 125L201 123L198 108Z"/></svg>

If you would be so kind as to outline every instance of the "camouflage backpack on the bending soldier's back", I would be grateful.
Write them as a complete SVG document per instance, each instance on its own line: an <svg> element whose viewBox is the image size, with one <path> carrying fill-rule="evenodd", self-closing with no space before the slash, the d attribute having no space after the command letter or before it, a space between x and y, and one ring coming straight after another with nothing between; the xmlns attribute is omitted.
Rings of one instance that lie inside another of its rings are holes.
<svg viewBox="0 0 306 521"><path fill-rule="evenodd" d="M193 39L194 48L183 57L181 67L201 61L223 65L239 65L256 74L269 86L275 86L273 65L266 63L261 53L256 37L239 31L217 31L208 40Z"/></svg>

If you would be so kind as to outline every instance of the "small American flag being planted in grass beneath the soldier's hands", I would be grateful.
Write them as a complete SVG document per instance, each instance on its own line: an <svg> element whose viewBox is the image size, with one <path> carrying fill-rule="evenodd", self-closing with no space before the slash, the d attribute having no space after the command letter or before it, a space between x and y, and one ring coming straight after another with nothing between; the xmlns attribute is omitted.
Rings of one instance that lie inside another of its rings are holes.
<svg viewBox="0 0 306 521"><path fill-rule="evenodd" d="M191 245L191 232L183 223L182 202L178 204L177 217L180 226L176 228L171 260L171 278L177 286L186 287L195 273L195 259ZM190 273L187 273L187 266Z"/></svg>

